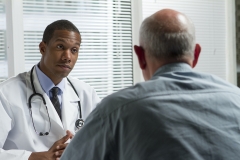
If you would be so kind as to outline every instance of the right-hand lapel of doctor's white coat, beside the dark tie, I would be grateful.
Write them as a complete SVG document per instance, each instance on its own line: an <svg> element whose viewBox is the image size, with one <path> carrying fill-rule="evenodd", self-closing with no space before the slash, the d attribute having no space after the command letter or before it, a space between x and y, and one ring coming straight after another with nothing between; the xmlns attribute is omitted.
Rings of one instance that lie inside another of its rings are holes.
<svg viewBox="0 0 240 160"><path fill-rule="evenodd" d="M65 80L65 90L62 99L62 122L65 130L75 131L75 121L79 117L79 97L74 92L70 83Z"/></svg>

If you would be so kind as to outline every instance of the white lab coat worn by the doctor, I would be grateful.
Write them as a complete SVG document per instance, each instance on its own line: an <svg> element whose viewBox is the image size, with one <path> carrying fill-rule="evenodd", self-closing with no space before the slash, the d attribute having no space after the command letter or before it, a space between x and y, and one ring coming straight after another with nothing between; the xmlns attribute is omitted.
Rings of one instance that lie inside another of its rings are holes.
<svg viewBox="0 0 240 160"><path fill-rule="evenodd" d="M51 131L48 136L38 136L33 128L28 99L33 93L30 72L21 73L0 84L0 160L27 160L32 152L47 151L55 141L66 135L66 130L75 133L75 121L79 117L78 101L85 120L100 101L94 89L78 79L70 78L79 97L65 79L62 95L62 122L49 97L33 72L37 93L46 100ZM37 131L47 132L49 120L42 100L32 99L32 116Z"/></svg>

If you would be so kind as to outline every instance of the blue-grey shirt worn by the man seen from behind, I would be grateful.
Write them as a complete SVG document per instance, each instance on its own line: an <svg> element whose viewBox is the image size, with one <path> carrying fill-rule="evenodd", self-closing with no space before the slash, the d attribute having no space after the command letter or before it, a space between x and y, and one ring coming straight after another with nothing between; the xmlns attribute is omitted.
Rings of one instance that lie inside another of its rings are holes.
<svg viewBox="0 0 240 160"><path fill-rule="evenodd" d="M185 63L104 98L61 160L237 160L240 90Z"/></svg>

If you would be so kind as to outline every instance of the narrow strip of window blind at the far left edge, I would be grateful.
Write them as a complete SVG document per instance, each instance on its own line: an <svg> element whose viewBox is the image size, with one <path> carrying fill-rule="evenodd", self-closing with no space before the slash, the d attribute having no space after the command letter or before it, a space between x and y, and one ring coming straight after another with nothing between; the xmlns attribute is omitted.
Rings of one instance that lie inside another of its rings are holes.
<svg viewBox="0 0 240 160"><path fill-rule="evenodd" d="M8 76L6 54L6 14L3 0L0 0L0 82Z"/></svg>

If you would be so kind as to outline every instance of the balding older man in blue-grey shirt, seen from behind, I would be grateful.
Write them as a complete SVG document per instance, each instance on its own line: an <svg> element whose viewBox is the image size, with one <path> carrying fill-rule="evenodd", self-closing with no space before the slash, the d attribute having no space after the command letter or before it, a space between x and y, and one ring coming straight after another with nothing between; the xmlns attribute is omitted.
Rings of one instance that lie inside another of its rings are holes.
<svg viewBox="0 0 240 160"><path fill-rule="evenodd" d="M191 20L156 12L134 49L146 82L105 98L61 159L239 159L240 91L193 71L201 47Z"/></svg>

